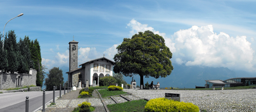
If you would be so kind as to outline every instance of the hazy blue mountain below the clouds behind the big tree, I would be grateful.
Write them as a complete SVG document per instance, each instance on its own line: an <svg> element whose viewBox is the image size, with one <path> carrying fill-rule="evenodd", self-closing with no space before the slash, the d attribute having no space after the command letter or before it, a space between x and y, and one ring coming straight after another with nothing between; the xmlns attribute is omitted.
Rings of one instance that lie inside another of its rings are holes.
<svg viewBox="0 0 256 112"><path fill-rule="evenodd" d="M227 80L229 78L236 77L255 77L254 73L246 71L232 71L224 67L199 67L199 66L185 66L172 63L173 70L171 75L166 78L154 78L144 77L144 85L150 84L154 81L154 84L159 82L160 87L179 87L179 88L195 88L195 86L204 86L205 80ZM131 83L132 77L124 77L127 83ZM140 85L140 76L136 75L133 77Z"/></svg>

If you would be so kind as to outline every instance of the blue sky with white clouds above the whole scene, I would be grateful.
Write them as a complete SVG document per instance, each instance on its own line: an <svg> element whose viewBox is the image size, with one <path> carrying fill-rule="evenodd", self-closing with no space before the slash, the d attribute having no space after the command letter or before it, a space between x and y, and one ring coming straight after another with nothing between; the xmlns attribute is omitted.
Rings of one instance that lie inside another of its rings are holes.
<svg viewBox="0 0 256 112"><path fill-rule="evenodd" d="M150 30L164 37L172 63L256 72L255 5L253 0L1 0L0 32L37 39L48 69L69 67L73 37L80 65L103 54L113 60L124 38Z"/></svg>

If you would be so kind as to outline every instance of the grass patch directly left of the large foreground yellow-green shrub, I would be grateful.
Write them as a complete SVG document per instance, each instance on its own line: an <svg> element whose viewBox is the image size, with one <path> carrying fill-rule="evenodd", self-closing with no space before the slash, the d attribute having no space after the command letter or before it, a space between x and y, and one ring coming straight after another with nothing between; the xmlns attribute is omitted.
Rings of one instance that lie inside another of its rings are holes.
<svg viewBox="0 0 256 112"><path fill-rule="evenodd" d="M146 100L134 100L124 103L107 105L110 112L144 112Z"/></svg>

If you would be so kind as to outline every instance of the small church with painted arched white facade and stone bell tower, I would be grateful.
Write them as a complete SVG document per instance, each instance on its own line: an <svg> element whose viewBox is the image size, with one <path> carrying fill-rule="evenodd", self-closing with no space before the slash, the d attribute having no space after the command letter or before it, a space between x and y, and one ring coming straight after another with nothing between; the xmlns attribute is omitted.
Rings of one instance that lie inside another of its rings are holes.
<svg viewBox="0 0 256 112"><path fill-rule="evenodd" d="M69 72L68 82L73 86L78 86L79 80L81 84L86 84L88 79L89 87L93 86L93 82L96 86L99 86L99 78L104 76L113 76L114 61L105 58L104 56L98 59L87 61L78 68L78 42L73 40L68 43L69 47Z"/></svg>

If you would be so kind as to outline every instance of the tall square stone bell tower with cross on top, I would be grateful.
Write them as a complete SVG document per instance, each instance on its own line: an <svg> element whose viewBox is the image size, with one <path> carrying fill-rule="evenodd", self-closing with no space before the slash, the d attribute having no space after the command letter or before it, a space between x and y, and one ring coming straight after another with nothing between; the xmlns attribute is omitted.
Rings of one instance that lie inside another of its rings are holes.
<svg viewBox="0 0 256 112"><path fill-rule="evenodd" d="M78 42L74 40L69 42L69 71L73 71L78 68Z"/></svg>

